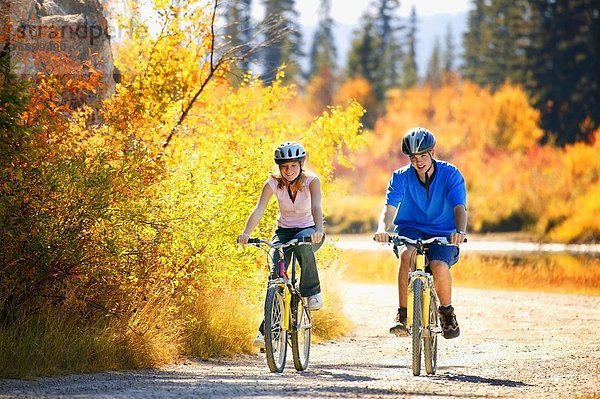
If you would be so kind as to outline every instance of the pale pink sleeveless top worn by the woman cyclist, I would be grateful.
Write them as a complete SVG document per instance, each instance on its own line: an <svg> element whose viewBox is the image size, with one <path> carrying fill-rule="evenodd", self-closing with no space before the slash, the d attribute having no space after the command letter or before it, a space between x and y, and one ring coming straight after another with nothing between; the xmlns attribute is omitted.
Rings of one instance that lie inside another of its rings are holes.
<svg viewBox="0 0 600 399"><path fill-rule="evenodd" d="M308 185L315 176L307 175L302 190L296 194L296 200L292 202L286 187L278 188L277 179L269 177L267 183L273 189L277 202L279 203L279 216L277 226L284 228L310 227L315 225L311 213L311 197Z"/></svg>

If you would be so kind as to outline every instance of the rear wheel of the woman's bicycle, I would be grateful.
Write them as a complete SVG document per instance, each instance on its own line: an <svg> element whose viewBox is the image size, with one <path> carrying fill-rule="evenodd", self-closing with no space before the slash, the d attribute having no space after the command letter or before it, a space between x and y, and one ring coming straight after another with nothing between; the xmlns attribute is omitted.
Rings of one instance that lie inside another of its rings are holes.
<svg viewBox="0 0 600 399"><path fill-rule="evenodd" d="M311 327L310 312L304 307L300 295L294 295L292 297L291 338L294 367L298 371L306 370L308 367Z"/></svg>

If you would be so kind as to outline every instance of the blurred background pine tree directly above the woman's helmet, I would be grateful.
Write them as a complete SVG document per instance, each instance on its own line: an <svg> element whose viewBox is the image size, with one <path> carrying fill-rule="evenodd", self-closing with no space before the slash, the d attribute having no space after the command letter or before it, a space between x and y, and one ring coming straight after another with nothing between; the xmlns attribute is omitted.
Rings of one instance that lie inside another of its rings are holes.
<svg viewBox="0 0 600 399"><path fill-rule="evenodd" d="M285 64L286 82L300 78L302 34L298 24L298 11L294 0L263 0L266 15L266 48L263 51L262 79L266 83L275 80L278 69Z"/></svg>

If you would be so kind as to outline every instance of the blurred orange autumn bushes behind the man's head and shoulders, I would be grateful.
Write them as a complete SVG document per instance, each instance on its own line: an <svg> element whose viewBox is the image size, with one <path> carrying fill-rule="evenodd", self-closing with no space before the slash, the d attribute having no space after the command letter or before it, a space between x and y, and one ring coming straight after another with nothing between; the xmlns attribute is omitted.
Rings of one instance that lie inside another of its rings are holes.
<svg viewBox="0 0 600 399"><path fill-rule="evenodd" d="M540 114L519 86L492 93L471 82L449 80L388 93L386 114L353 156L346 173L355 193L383 195L391 172L408 159L405 132L425 126L437 139L436 158L459 167L467 182L469 229L529 229L560 241L600 237L600 145L564 149L539 145ZM367 224L367 223L365 223Z"/></svg>

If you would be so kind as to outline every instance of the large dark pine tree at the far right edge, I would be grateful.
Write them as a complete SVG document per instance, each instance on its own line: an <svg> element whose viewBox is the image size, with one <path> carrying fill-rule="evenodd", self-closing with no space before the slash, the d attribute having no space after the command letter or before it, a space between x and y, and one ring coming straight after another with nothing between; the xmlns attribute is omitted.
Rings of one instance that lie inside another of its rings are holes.
<svg viewBox="0 0 600 399"><path fill-rule="evenodd" d="M600 121L600 6L593 0L531 0L539 21L527 48L527 88L558 144L589 137Z"/></svg>

